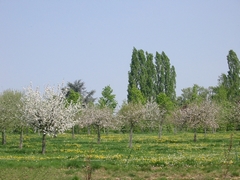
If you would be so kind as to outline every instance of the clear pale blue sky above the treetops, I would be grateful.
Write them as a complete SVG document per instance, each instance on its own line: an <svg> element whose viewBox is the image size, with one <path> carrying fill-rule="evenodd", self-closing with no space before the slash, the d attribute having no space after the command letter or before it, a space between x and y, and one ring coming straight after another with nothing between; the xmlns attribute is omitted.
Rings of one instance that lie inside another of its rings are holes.
<svg viewBox="0 0 240 180"><path fill-rule="evenodd" d="M178 96L216 86L229 50L240 58L240 1L0 0L0 92L82 80L121 104L134 47L165 52Z"/></svg>

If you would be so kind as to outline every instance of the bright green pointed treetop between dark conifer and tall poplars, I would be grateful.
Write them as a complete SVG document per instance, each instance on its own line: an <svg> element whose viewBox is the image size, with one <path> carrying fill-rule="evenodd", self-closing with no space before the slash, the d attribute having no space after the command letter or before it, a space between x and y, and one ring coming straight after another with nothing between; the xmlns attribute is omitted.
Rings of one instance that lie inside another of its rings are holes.
<svg viewBox="0 0 240 180"><path fill-rule="evenodd" d="M115 100L116 95L113 94L113 89L110 85L106 86L102 90L102 97L98 100L100 108L108 107L114 110L117 106L117 101Z"/></svg>

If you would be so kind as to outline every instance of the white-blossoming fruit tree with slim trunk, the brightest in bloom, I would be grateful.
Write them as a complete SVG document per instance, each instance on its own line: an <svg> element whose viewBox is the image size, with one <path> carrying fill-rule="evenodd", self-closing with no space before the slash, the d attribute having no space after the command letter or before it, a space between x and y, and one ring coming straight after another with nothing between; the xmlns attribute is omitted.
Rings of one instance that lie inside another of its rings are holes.
<svg viewBox="0 0 240 180"><path fill-rule="evenodd" d="M70 129L74 124L74 116L81 109L80 103L68 103L66 92L58 86L47 86L41 94L32 86L25 89L24 115L28 124L42 132L42 154L46 151L46 135L56 135Z"/></svg>

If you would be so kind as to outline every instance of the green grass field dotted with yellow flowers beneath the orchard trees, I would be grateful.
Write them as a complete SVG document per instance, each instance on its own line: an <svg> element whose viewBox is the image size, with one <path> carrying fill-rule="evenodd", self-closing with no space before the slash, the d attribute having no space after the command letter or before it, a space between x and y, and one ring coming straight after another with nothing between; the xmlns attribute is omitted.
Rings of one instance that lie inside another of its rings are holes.
<svg viewBox="0 0 240 180"><path fill-rule="evenodd" d="M0 146L0 179L240 179L240 132L134 134L71 134L47 137L46 154L41 154L41 136L7 134ZM232 141L232 142L231 142Z"/></svg>

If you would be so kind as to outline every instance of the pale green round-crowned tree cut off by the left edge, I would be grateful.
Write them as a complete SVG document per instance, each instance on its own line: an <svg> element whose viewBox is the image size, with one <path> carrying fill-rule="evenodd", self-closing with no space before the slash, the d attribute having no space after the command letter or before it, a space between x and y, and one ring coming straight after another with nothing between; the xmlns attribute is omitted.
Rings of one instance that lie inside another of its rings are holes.
<svg viewBox="0 0 240 180"><path fill-rule="evenodd" d="M22 94L18 91L6 90L0 94L0 130L2 132L2 145L6 144L6 130L14 127L20 116L20 99Z"/></svg>

